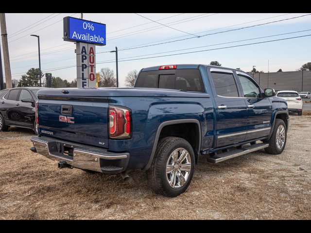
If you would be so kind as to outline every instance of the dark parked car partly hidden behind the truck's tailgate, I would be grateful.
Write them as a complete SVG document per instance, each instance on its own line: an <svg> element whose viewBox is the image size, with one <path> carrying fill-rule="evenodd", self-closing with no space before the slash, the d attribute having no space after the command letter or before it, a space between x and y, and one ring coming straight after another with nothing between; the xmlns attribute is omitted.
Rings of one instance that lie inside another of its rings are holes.
<svg viewBox="0 0 311 233"><path fill-rule="evenodd" d="M43 87L22 87L0 91L0 131L10 126L32 129L38 134L35 120L37 92Z"/></svg>

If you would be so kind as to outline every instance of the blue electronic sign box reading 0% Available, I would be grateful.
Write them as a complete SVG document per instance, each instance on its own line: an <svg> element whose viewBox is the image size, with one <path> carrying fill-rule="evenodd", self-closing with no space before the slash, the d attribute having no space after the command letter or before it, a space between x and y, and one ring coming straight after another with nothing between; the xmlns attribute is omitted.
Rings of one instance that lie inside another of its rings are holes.
<svg viewBox="0 0 311 233"><path fill-rule="evenodd" d="M106 45L106 25L83 19L64 18L64 40Z"/></svg>

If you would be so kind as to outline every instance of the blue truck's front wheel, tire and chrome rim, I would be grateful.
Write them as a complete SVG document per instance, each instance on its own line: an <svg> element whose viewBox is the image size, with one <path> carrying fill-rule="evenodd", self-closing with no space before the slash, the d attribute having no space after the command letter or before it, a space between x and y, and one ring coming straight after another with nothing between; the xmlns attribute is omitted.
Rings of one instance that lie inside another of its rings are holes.
<svg viewBox="0 0 311 233"><path fill-rule="evenodd" d="M276 119L274 130L269 141L265 143L269 144L266 148L268 154L281 154L283 153L287 141L287 129L285 122L281 119Z"/></svg>

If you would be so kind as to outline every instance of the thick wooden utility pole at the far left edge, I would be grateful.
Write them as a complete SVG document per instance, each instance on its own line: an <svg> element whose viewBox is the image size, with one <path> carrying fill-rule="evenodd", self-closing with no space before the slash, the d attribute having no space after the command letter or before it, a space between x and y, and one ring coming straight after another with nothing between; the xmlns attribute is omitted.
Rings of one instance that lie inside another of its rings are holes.
<svg viewBox="0 0 311 233"><path fill-rule="evenodd" d="M6 32L5 13L0 13L0 25L1 25L3 60L4 60L5 81L6 81L5 83L6 88L12 88L12 75L10 67L8 34Z"/></svg>

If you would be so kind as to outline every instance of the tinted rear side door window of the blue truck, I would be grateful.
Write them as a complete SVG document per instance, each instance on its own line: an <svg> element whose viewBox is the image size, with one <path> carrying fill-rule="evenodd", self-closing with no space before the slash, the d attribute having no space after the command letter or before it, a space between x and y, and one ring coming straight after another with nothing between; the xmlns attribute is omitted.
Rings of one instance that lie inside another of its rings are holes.
<svg viewBox="0 0 311 233"><path fill-rule="evenodd" d="M222 97L239 97L237 83L233 74L212 73L216 92Z"/></svg>

